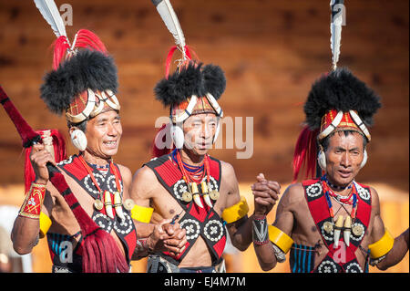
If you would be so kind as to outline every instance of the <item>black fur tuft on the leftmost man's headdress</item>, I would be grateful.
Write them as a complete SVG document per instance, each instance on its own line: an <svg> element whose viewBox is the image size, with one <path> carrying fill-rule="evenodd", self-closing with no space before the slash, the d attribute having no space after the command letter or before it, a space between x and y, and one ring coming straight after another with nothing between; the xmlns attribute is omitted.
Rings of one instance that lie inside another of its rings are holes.
<svg viewBox="0 0 410 291"><path fill-rule="evenodd" d="M117 67L112 57L82 49L64 61L59 68L48 72L41 86L41 99L56 114L62 114L73 99L87 88L110 89L117 93Z"/></svg>

